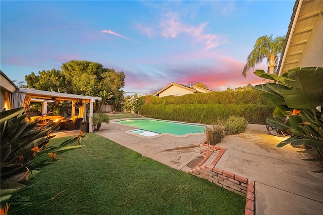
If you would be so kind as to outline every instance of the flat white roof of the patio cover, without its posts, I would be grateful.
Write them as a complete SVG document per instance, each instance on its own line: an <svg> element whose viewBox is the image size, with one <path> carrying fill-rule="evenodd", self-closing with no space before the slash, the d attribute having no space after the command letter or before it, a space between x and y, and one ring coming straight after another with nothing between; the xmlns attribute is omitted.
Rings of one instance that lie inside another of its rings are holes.
<svg viewBox="0 0 323 215"><path fill-rule="evenodd" d="M27 89L27 88L18 88L16 92L23 92L26 93L26 96L33 97L33 98L43 98L43 99L56 99L56 100L101 100L101 97L94 97L94 96L86 96L86 95L76 95L76 94L69 94L69 93L60 93L60 92L50 92L50 91L43 91L43 90L35 90L35 89Z"/></svg>

